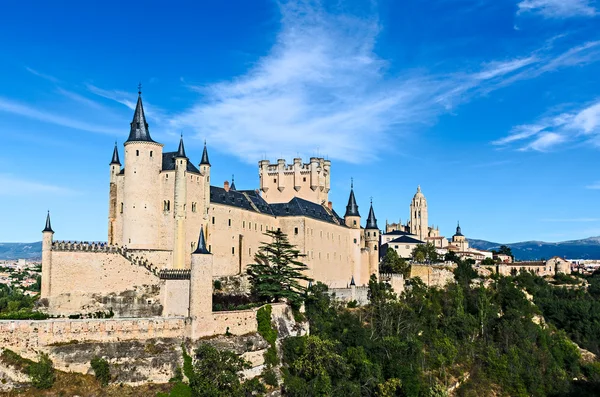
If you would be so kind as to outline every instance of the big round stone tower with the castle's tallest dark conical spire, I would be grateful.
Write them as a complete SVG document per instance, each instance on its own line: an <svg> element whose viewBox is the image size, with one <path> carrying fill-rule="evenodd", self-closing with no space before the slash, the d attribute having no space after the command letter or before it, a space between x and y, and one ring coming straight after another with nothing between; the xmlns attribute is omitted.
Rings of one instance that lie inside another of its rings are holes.
<svg viewBox="0 0 600 397"><path fill-rule="evenodd" d="M142 93L125 142L123 201L123 241L128 248L148 249L163 245L159 241L157 214L160 206L160 171L163 145L152 140L142 105Z"/></svg>

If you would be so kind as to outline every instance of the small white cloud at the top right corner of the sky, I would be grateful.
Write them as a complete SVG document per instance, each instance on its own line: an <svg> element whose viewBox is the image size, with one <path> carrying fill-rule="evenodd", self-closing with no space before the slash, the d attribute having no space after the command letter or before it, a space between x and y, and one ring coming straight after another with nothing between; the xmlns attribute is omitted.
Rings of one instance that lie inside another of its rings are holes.
<svg viewBox="0 0 600 397"><path fill-rule="evenodd" d="M518 14L539 14L545 18L594 17L598 10L593 0L523 0Z"/></svg>

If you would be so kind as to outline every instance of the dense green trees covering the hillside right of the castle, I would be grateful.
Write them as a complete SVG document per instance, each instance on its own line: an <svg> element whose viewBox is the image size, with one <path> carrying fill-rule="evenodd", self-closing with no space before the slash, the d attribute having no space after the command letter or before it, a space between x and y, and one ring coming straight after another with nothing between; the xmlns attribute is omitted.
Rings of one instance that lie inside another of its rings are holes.
<svg viewBox="0 0 600 397"><path fill-rule="evenodd" d="M413 279L400 297L373 277L371 303L353 310L333 301L323 284L312 286L305 301L310 336L287 338L282 345L286 395L446 396L459 380L459 396L600 390L600 366L582 366L569 340L584 335L569 318L581 315L590 331L582 341L594 348L600 333L592 327L600 310L584 301L597 305L600 296L557 288L531 274L495 277L487 288L473 285L469 261L459 261L455 277L457 283L443 289ZM600 294L598 278L597 290L596 280L588 281L594 294ZM531 288L539 308L523 288ZM573 307L561 308L558 297L571 294ZM590 313L583 315L583 308ZM534 321L540 309L549 313L550 326ZM552 325L559 324L552 313L565 315L558 316L563 329Z"/></svg>

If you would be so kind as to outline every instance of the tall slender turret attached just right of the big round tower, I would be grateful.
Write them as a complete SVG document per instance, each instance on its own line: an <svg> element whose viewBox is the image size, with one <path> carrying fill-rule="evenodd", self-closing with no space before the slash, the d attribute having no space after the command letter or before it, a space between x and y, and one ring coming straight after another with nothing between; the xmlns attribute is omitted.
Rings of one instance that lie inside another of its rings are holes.
<svg viewBox="0 0 600 397"><path fill-rule="evenodd" d="M185 267L185 210L187 199L186 170L189 159L185 155L183 136L179 139L179 148L175 155L175 241L173 246L173 268L183 269Z"/></svg>

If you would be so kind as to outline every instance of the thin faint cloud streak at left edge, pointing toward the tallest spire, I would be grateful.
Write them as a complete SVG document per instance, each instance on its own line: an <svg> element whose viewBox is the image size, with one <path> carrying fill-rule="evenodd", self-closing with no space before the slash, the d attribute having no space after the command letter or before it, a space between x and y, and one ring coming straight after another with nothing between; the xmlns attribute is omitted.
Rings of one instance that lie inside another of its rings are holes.
<svg viewBox="0 0 600 397"><path fill-rule="evenodd" d="M25 105L10 99L0 97L0 112L6 112L18 116L27 117L46 123L56 124L63 127L73 128L88 132L97 132L103 134L118 134L119 131L110 127L88 123L71 117L65 117L48 111L39 110L30 105Z"/></svg>

